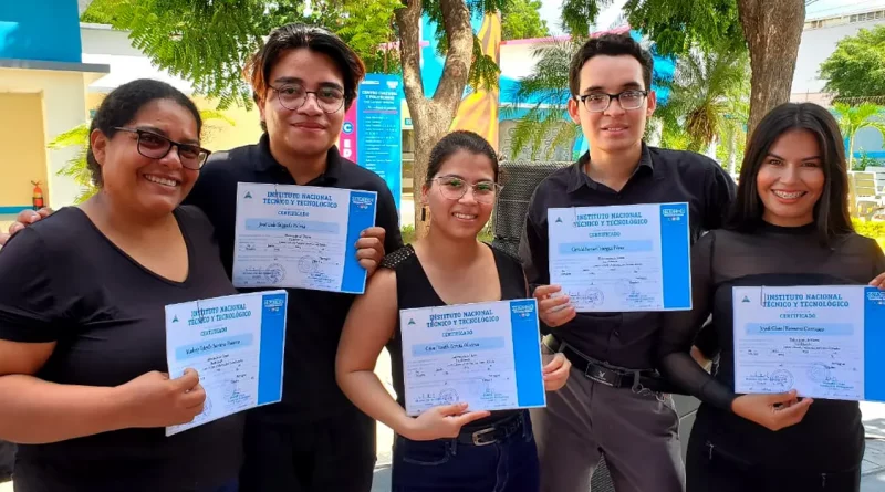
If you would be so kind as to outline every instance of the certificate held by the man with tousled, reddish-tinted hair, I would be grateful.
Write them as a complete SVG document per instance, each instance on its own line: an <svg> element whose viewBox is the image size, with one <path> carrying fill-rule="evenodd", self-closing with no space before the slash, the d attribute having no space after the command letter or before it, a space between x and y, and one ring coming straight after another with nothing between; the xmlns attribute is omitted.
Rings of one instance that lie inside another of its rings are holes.
<svg viewBox="0 0 885 492"><path fill-rule="evenodd" d="M233 285L362 294L356 241L375 224L375 191L240 182Z"/></svg>

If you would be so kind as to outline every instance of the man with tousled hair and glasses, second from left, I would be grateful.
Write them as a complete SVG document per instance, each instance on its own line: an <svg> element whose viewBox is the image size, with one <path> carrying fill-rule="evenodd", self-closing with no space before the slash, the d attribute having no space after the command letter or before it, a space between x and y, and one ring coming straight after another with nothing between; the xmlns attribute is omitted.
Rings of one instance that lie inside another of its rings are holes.
<svg viewBox="0 0 885 492"><path fill-rule="evenodd" d="M211 220L228 275L233 263L238 182L376 191L376 227L363 231L356 243L360 264L372 274L384 252L399 249L403 239L385 181L344 159L336 147L344 113L365 75L363 62L331 32L289 24L271 32L246 74L266 133L256 145L214 153L185 200ZM139 151L148 157L171 147L148 134L139 138ZM185 144L175 145L179 156L189 155ZM11 231L44 213L20 216ZM339 337L354 295L288 291L283 397L280 404L247 416L239 490L368 492L375 421L356 409L335 381Z"/></svg>

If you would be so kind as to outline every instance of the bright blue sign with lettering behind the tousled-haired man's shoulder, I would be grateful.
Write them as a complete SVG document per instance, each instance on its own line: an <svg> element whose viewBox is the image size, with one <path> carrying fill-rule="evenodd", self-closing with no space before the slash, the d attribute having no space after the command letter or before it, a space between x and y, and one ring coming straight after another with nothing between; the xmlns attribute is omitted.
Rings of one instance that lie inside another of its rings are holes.
<svg viewBox="0 0 885 492"><path fill-rule="evenodd" d="M387 182L397 210L403 193L402 101L399 75L375 73L366 74L356 98L356 163Z"/></svg>

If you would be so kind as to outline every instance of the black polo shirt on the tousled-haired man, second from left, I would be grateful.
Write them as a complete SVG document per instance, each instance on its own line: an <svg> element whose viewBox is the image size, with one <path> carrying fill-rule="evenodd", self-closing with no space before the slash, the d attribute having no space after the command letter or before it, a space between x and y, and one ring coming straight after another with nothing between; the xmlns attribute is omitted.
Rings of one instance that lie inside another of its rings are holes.
<svg viewBox="0 0 885 492"><path fill-rule="evenodd" d="M267 134L257 145L211 155L186 202L202 209L215 226L221 261L229 276L233 265L238 182L295 185L292 175L270 154ZM396 205L387 185L378 175L341 157L336 147L329 150L325 172L311 182L299 185L376 191L375 224L387 231L385 251L403 245ZM262 407L257 412L303 423L351 410L350 400L335 383L335 353L355 296L303 289L288 291L282 402Z"/></svg>

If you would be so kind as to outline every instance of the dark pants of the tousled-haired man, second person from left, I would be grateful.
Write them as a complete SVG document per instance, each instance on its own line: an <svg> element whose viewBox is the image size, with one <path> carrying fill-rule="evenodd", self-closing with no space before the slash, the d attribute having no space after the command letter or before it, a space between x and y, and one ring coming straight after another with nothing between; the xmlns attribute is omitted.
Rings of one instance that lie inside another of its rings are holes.
<svg viewBox="0 0 885 492"><path fill-rule="evenodd" d="M369 492L375 421L357 410L293 423L256 412L247 418L244 451L240 492Z"/></svg>

